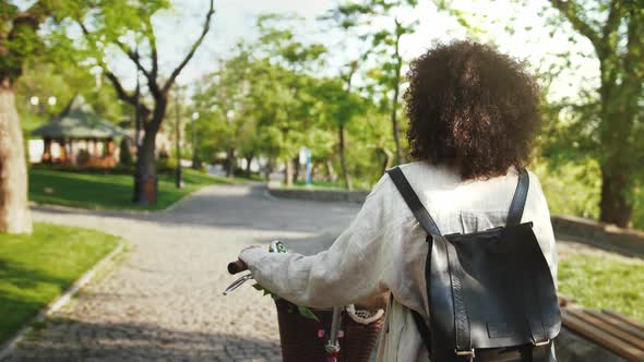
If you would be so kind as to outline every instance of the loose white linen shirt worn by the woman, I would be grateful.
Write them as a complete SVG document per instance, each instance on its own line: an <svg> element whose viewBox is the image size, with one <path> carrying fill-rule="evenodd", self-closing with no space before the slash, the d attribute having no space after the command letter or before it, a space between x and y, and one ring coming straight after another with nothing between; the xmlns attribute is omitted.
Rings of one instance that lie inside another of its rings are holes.
<svg viewBox="0 0 644 362"><path fill-rule="evenodd" d="M505 225L518 180L513 168L506 176L487 181L463 181L456 170L425 161L401 168L443 234ZM548 205L532 172L529 181L522 221L534 222L533 230L557 280ZM260 285L299 305L348 305L391 292L378 361L426 362L427 350L409 312L413 309L428 321L431 313L425 287L426 236L385 173L327 251L302 256L250 248L239 257Z"/></svg>

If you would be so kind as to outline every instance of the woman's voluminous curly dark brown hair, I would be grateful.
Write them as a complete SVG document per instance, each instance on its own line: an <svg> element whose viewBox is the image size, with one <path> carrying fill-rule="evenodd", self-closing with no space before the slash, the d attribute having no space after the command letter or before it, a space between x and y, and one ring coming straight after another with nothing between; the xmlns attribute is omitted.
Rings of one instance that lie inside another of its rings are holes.
<svg viewBox="0 0 644 362"><path fill-rule="evenodd" d="M410 154L456 166L465 180L525 167L541 112L526 64L469 40L438 45L407 73Z"/></svg>

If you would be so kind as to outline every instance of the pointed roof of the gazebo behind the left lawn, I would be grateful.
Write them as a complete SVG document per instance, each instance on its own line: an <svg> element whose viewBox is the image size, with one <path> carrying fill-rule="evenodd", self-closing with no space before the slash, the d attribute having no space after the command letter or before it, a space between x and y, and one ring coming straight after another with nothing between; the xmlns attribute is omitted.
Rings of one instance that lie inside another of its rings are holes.
<svg viewBox="0 0 644 362"><path fill-rule="evenodd" d="M49 138L92 140L119 137L127 135L127 133L118 125L102 119L83 96L76 95L60 116L32 131L32 135Z"/></svg>

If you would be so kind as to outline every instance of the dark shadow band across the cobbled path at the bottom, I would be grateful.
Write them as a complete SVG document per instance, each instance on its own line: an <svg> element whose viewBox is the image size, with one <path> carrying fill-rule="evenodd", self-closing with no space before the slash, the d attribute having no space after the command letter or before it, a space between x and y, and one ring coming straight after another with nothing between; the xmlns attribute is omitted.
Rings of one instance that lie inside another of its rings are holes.
<svg viewBox="0 0 644 362"><path fill-rule="evenodd" d="M75 335L69 342L69 335ZM8 361L281 361L279 343L235 334L174 330L152 324L58 318L25 338Z"/></svg>

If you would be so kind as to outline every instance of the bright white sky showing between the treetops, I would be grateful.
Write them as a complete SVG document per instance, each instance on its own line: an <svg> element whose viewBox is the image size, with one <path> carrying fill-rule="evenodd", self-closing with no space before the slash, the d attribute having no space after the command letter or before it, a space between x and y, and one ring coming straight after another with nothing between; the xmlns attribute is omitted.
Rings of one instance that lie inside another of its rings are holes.
<svg viewBox="0 0 644 362"><path fill-rule="evenodd" d="M20 1L19 1L20 2ZM230 55L236 43L243 39L252 43L257 38L257 17L264 13L296 14L306 21L302 26L294 29L305 41L322 43L330 49L329 64L323 72L326 75L337 74L357 52L356 43L346 39L346 33L322 24L317 19L336 5L338 0L216 0L215 15L211 32L192 61L178 79L182 85L193 87L203 75L217 69L218 60ZM560 61L553 55L565 50L579 50L592 53L589 43L575 36L570 26L556 29L546 25L539 10L547 5L546 0L529 0L527 5L518 8L513 0L453 0L454 7L470 13L475 24L489 32L481 40L498 45L503 52L521 60L530 62L534 68L548 61ZM199 36L207 11L208 0L174 0L174 8L153 17L158 39L159 63L162 74L169 74L183 59L192 43ZM468 36L453 16L440 12L431 0L420 0L416 9L408 9L395 14L404 22L418 21L416 32L401 40L401 49L405 60L412 60L437 41L450 41ZM516 17L516 33L504 29L509 17ZM391 22L391 19L387 20ZM384 24L375 24L382 26ZM525 31L524 27L528 27ZM573 44L570 37L579 41ZM127 88L133 88L135 70L133 64L117 56L109 61L110 69L122 80ZM373 65L373 64L370 64ZM562 73L550 88L554 98L575 97L581 88L597 86L598 63L594 59L575 57L573 69ZM575 69L575 67L579 67ZM403 70L405 71L405 70Z"/></svg>

